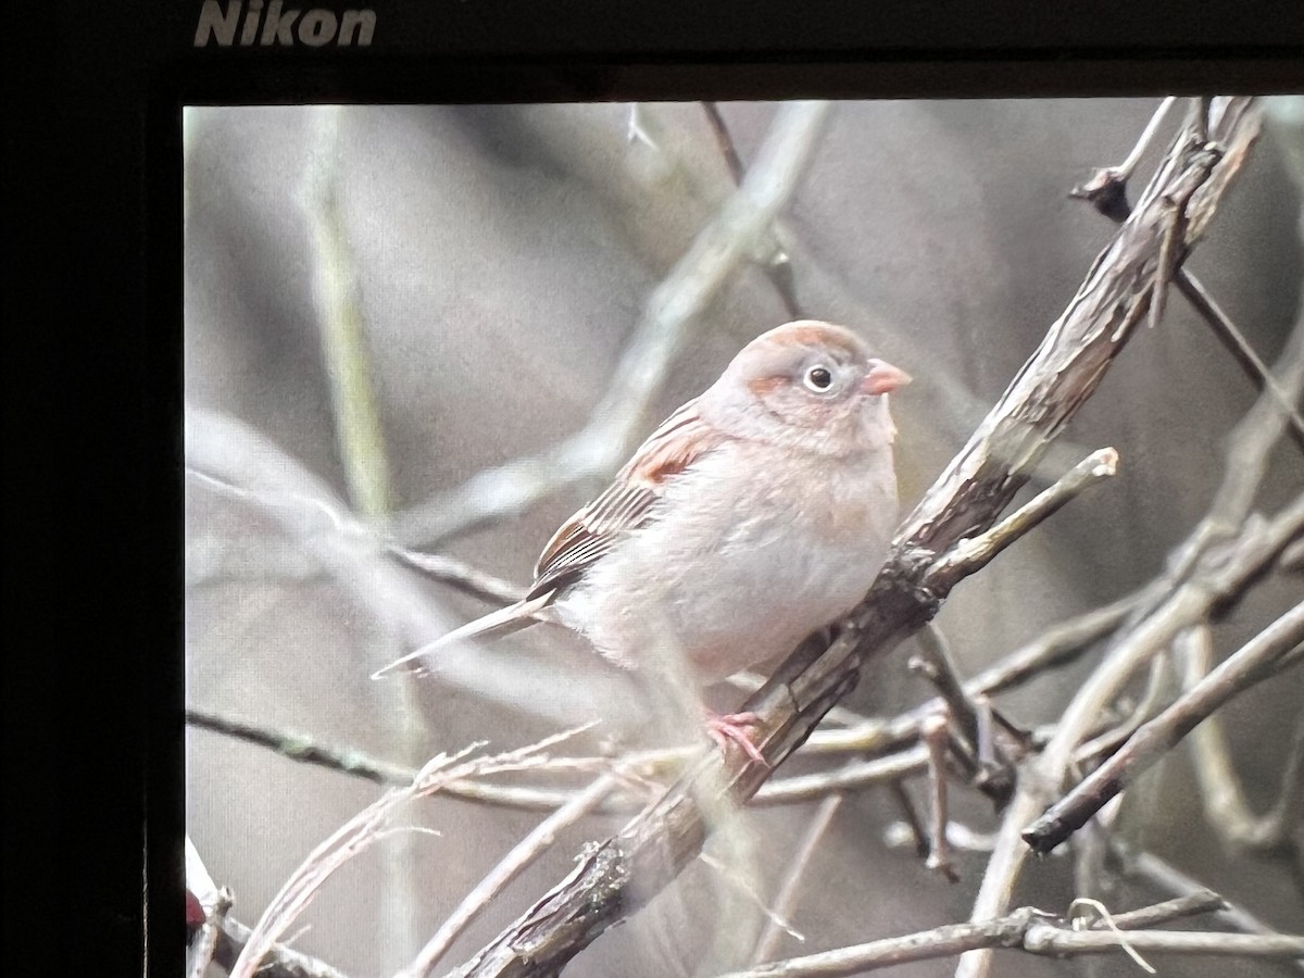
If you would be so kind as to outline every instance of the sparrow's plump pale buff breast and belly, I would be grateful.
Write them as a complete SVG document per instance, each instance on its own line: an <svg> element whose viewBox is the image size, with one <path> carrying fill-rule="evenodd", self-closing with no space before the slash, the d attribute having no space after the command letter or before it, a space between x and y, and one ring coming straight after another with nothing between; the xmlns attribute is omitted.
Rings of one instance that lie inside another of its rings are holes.
<svg viewBox="0 0 1304 978"><path fill-rule="evenodd" d="M883 468L793 466L763 446L712 454L575 589L571 618L617 661L669 648L702 679L784 655L878 572L896 523Z"/></svg>

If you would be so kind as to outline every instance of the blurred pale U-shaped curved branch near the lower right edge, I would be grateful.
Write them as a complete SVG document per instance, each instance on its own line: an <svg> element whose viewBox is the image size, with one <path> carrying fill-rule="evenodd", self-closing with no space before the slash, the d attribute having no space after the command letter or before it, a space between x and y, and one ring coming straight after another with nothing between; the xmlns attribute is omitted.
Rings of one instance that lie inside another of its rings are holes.
<svg viewBox="0 0 1304 978"><path fill-rule="evenodd" d="M1178 636L1183 686L1193 691L1209 673L1213 636L1208 625ZM1279 664L1283 660L1279 660ZM1214 832L1236 846L1271 850L1279 848L1304 823L1304 720L1296 717L1290 756L1282 773L1282 789L1271 810L1256 816L1240 790L1232 768L1222 717L1209 716L1191 732L1191 758L1205 806L1205 820Z"/></svg>

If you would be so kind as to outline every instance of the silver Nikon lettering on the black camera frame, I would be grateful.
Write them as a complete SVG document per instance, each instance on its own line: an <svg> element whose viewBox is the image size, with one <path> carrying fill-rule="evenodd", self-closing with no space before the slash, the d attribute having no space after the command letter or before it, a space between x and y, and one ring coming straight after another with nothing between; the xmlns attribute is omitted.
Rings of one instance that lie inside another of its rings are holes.
<svg viewBox="0 0 1304 978"><path fill-rule="evenodd" d="M218 47L322 47L335 44L366 47L376 33L376 10L344 10L336 14L314 7L309 10L287 10L283 0L271 0L263 13L263 0L227 0L226 9L218 0L203 0L200 26L194 29L194 46L205 47L216 40Z"/></svg>

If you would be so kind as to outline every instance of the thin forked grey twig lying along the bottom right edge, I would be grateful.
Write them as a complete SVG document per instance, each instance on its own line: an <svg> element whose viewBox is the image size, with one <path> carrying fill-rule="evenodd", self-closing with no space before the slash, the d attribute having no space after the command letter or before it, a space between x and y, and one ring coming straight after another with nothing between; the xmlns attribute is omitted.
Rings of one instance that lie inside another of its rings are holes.
<svg viewBox="0 0 1304 978"><path fill-rule="evenodd" d="M1204 893L1167 900L1162 904L1141 908L1131 913L1115 914L1107 923L1097 921L1089 928L1078 928L1074 922L1063 921L1031 906L1024 906L994 921L981 923L952 923L930 931L909 934L902 938L888 938L868 944L825 951L818 955L794 957L788 961L750 968L721 978L806 978L807 975L855 975L863 971L876 971L883 968L928 961L939 957L952 957L977 948L1004 948L1025 951L1052 957L1077 953L1097 953L1101 951L1121 951L1124 944L1151 952L1191 953L1189 938L1244 938L1244 935L1192 935L1179 932L1155 932L1141 930L1158 923L1208 913L1222 906L1222 898L1210 891ZM1116 931L1127 931L1123 938ZM1078 936L1085 940L1074 940ZM1304 945L1304 938L1256 936L1253 943L1241 941L1234 945L1236 951L1224 953L1240 955L1281 955L1286 956L1295 947L1291 941Z"/></svg>

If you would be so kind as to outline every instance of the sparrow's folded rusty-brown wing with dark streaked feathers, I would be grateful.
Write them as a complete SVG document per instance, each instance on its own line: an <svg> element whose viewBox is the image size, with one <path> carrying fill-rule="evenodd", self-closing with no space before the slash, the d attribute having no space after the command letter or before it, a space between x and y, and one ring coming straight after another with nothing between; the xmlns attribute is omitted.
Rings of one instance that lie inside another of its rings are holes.
<svg viewBox="0 0 1304 978"><path fill-rule="evenodd" d="M665 492L666 480L722 441L724 436L698 415L696 398L670 415L602 494L566 520L548 541L535 566L535 584L528 597L556 592L579 578L629 531L648 520L652 506Z"/></svg>

